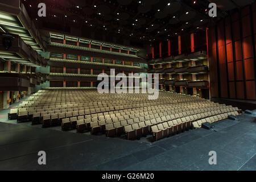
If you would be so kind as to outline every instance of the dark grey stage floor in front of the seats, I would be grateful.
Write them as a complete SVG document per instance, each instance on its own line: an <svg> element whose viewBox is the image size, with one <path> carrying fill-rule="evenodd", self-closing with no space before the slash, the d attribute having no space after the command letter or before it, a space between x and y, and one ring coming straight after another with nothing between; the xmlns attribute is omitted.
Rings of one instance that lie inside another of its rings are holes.
<svg viewBox="0 0 256 182"><path fill-rule="evenodd" d="M255 117L242 114L239 121L215 123L215 131L193 129L158 142L42 129L2 117L0 170L256 170ZM46 151L46 165L38 164L39 151ZM209 164L209 151L216 151L216 165Z"/></svg>

